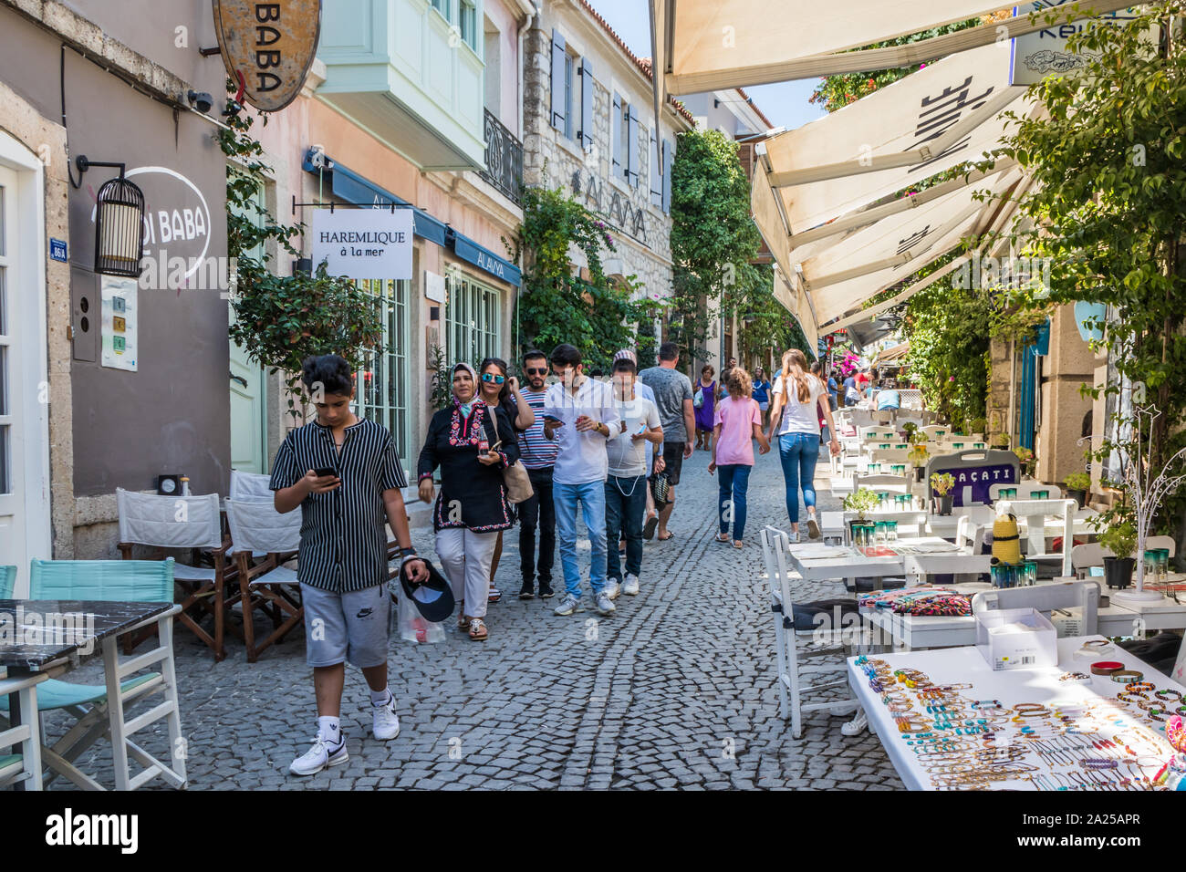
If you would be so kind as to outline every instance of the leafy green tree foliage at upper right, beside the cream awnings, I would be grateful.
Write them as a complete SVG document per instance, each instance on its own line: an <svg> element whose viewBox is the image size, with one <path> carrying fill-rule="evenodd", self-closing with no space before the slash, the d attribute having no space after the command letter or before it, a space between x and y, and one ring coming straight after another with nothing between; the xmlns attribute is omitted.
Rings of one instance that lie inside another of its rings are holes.
<svg viewBox="0 0 1186 872"><path fill-rule="evenodd" d="M1069 50L1089 58L1085 69L1033 85L1047 113L1014 115L1015 132L997 154L1016 159L1035 183L1015 230L1028 253L1050 259L1048 301L1109 307L1102 345L1120 378L1085 390L1111 397L1117 414L1096 458L1128 438L1121 412L1128 392L1143 386L1161 412L1148 458L1160 469L1186 419L1186 5L1137 8L1120 26L1071 38Z"/></svg>

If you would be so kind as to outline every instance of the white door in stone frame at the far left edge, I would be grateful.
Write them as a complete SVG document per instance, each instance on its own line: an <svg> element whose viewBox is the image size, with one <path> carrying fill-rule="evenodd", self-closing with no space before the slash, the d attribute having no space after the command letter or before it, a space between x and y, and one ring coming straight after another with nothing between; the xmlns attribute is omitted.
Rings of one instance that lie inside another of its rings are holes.
<svg viewBox="0 0 1186 872"><path fill-rule="evenodd" d="M39 173L0 164L0 565L17 567L18 596L28 561L52 556L39 191Z"/></svg>

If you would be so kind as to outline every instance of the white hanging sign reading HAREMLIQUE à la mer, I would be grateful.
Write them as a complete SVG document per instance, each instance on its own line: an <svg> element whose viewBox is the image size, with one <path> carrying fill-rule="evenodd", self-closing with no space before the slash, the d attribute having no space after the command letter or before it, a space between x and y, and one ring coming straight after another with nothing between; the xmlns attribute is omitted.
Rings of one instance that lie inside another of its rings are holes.
<svg viewBox="0 0 1186 872"><path fill-rule="evenodd" d="M351 279L412 279L412 210L318 209L313 268Z"/></svg>

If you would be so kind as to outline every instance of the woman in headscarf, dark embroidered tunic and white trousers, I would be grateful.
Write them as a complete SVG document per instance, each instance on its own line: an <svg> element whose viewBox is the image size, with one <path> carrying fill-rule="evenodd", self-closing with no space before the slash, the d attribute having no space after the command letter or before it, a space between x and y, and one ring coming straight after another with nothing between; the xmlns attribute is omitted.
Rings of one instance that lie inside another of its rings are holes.
<svg viewBox="0 0 1186 872"><path fill-rule="evenodd" d="M433 472L440 467L441 492L433 509L436 554L453 598L458 626L485 641L490 560L498 534L515 522L506 502L503 470L518 459L518 440L506 413L478 395L478 375L468 363L453 367L453 401L433 415L417 473L420 498L433 502Z"/></svg>

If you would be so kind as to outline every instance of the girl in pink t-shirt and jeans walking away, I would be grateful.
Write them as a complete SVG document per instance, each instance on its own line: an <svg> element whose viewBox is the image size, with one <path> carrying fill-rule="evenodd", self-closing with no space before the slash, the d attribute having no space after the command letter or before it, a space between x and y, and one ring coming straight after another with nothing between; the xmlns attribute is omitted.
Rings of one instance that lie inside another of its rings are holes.
<svg viewBox="0 0 1186 872"><path fill-rule="evenodd" d="M729 521L733 521L733 547L740 548L745 537L745 495L750 489L750 470L753 469L753 443L758 440L758 452L770 451L770 440L761 432L761 408L753 399L750 374L740 367L729 370L726 384L729 395L716 406L713 427L713 460L708 473L720 469L721 532L718 542L729 541Z"/></svg>

